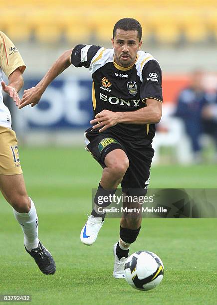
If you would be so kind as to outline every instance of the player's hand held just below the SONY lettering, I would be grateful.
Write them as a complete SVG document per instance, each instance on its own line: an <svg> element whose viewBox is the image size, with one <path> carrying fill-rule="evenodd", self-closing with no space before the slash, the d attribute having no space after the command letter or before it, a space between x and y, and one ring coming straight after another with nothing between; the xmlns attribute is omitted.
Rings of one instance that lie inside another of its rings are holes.
<svg viewBox="0 0 217 305"><path fill-rule="evenodd" d="M90 121L90 124L96 124L93 129L100 128L99 133L104 132L107 128L114 126L118 123L118 112L112 112L109 110L103 110L95 116L94 120Z"/></svg>

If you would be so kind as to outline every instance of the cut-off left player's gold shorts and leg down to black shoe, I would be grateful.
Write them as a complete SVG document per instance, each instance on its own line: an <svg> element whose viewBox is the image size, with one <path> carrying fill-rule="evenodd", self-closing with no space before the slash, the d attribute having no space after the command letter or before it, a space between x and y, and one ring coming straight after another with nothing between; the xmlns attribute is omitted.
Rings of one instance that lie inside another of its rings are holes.
<svg viewBox="0 0 217 305"><path fill-rule="evenodd" d="M37 213L26 192L15 133L0 127L0 143L0 191L13 207L14 216L24 233L26 251L44 274L53 274L55 263L52 256L38 240Z"/></svg>

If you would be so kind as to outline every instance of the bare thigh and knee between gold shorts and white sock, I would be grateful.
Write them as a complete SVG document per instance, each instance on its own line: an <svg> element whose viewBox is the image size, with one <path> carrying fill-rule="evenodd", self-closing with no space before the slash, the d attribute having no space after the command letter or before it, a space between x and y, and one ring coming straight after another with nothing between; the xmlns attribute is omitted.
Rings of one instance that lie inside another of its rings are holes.
<svg viewBox="0 0 217 305"><path fill-rule="evenodd" d="M0 191L12 205L19 203L19 201L25 203L24 201L28 200L23 174L0 174Z"/></svg>

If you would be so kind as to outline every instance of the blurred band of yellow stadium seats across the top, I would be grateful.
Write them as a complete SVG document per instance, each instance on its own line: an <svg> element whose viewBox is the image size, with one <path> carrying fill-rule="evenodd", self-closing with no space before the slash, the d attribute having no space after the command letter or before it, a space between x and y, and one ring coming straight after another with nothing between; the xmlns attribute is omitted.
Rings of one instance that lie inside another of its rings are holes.
<svg viewBox="0 0 217 305"><path fill-rule="evenodd" d="M140 20L149 43L180 45L217 39L215 0L13 0L1 4L0 27L14 41L108 42L123 16Z"/></svg>

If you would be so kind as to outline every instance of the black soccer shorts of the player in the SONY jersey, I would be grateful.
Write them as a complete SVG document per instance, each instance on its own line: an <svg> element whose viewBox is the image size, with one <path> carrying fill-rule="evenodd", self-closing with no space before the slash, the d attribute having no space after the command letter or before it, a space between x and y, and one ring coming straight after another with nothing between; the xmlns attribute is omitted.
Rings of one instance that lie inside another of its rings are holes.
<svg viewBox="0 0 217 305"><path fill-rule="evenodd" d="M130 163L121 182L123 192L129 193L128 189L141 189L140 194L146 194L154 155L154 149L151 145L148 147L137 146L109 133L99 133L92 128L87 129L84 135L87 151L103 168L106 167L104 160L109 152L116 149L123 150Z"/></svg>

